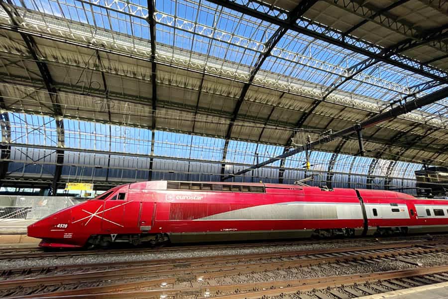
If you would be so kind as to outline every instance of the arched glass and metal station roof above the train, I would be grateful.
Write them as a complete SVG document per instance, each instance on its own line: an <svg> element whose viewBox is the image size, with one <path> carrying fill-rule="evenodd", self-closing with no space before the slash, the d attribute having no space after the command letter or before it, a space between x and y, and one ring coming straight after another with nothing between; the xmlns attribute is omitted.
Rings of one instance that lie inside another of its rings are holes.
<svg viewBox="0 0 448 299"><path fill-rule="evenodd" d="M3 1L1 183L223 179L446 88L447 5ZM447 109L365 128L365 157L350 135L310 169L299 153L234 179L412 187L447 166Z"/></svg>

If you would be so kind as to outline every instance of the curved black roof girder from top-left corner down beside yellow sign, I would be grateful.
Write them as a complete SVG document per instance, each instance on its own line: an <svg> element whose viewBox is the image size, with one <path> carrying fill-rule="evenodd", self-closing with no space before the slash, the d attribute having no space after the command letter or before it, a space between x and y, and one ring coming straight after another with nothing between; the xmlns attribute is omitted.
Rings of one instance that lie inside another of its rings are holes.
<svg viewBox="0 0 448 299"><path fill-rule="evenodd" d="M6 3L7 2L7 3ZM12 24L16 27L20 27L20 24L23 22L20 14L15 9L14 4L10 0L2 0L0 1L1 7L4 9L4 11L8 14ZM60 149L56 152L56 160L57 164L55 167L55 171L53 174L53 182L52 182L52 190L51 195L56 195L57 190L57 182L59 181L62 173L62 163L64 161L64 150L62 148L64 147L64 121L62 120L62 109L58 102L58 92L56 88L53 85L53 78L50 74L50 71L48 69L48 66L45 62L42 62L39 58L39 49L37 47L36 42L34 41L34 38L29 35L20 32L20 36L22 37L23 41L26 44L26 47L31 54L32 59L37 65L37 68L39 69L40 75L42 77L42 80L45 84L45 87L48 91L48 95L50 97L50 100L53 105L53 111L55 114L55 122L56 122L56 132L58 136L58 145L60 145ZM42 55L40 55L42 56Z"/></svg>

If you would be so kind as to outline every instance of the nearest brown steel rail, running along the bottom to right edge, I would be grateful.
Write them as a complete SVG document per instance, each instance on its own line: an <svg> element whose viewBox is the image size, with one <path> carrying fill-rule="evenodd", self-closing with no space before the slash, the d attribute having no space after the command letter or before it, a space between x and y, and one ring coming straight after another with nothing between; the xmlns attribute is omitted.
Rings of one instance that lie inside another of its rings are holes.
<svg viewBox="0 0 448 299"><path fill-rule="evenodd" d="M267 298L268 296L280 296L286 294L295 294L297 292L322 290L327 288L335 288L341 286L348 286L354 284L363 284L369 282L386 281L391 279L412 278L424 275L431 275L437 273L448 272L448 266L437 266L420 269L406 269L386 272L363 273L354 275L330 276L313 279L297 279L297 280L283 280L263 283L249 283L236 285L221 285L221 286L201 286L193 288L179 288L179 289L155 289L149 291L134 291L139 288L136 283L129 284L128 292L121 292L119 288L103 287L103 288L88 288L84 290L74 290L57 292L54 294L42 294L38 298L166 298L174 296L175 298L189 297L194 295L205 297L214 297L219 299L259 299ZM448 276L447 276L448 280ZM162 282L163 280L160 280ZM133 285L131 287L130 285ZM103 289L103 293L89 293L94 289ZM261 291L262 290L262 291ZM80 292L81 291L81 292ZM84 292L84 294L82 293ZM120 292L120 293L117 293ZM226 294L227 293L227 294ZM228 294L232 293L232 294ZM379 293L379 292L378 292ZM224 294L224 295L223 295ZM215 295L215 296L214 296ZM220 296L221 295L221 296ZM9 299L17 299L19 297L11 297ZM36 298L35 296L22 296L20 298Z"/></svg>

